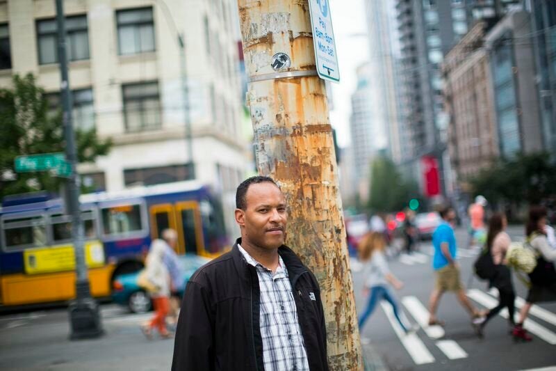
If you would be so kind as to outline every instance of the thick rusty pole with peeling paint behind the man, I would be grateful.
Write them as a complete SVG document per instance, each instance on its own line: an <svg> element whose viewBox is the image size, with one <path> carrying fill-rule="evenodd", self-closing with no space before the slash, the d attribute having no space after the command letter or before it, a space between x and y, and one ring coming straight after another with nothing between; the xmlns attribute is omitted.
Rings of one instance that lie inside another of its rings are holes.
<svg viewBox="0 0 556 371"><path fill-rule="evenodd" d="M287 243L320 283L331 370L363 370L325 83L307 0L238 0L259 173L289 205Z"/></svg>

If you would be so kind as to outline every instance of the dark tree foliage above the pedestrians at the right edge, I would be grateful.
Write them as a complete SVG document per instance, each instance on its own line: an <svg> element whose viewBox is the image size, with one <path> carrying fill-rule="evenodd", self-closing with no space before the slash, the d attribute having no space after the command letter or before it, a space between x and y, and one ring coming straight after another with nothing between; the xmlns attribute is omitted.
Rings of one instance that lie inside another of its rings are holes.
<svg viewBox="0 0 556 371"><path fill-rule="evenodd" d="M491 203L539 204L556 196L556 164L548 152L520 153L483 168L469 184Z"/></svg>

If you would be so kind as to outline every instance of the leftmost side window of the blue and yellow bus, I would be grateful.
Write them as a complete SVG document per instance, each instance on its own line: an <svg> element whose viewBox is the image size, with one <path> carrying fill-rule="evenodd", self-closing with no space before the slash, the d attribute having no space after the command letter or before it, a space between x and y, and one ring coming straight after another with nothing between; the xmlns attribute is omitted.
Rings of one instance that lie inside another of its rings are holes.
<svg viewBox="0 0 556 371"><path fill-rule="evenodd" d="M43 216L5 220L2 227L6 251L47 245L47 226Z"/></svg>

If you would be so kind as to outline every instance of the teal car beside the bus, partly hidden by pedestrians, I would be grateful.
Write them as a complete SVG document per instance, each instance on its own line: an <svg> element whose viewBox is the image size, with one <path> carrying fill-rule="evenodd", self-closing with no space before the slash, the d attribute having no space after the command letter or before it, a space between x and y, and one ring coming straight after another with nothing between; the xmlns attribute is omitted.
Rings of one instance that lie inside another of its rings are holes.
<svg viewBox="0 0 556 371"><path fill-rule="evenodd" d="M199 255L180 255L182 263L183 285L180 294L183 295L186 283L195 271L210 261ZM151 310L152 302L149 294L137 284L137 278L141 271L128 274L120 274L114 278L112 287L112 299L115 303L127 306L133 313L145 313Z"/></svg>

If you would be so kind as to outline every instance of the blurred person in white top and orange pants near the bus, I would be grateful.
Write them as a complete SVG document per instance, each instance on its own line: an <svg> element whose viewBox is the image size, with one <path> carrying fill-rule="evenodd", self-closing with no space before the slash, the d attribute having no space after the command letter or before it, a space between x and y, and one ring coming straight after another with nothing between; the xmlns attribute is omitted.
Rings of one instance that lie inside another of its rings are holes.
<svg viewBox="0 0 556 371"><path fill-rule="evenodd" d="M166 328L166 316L170 312L170 273L163 260L165 248L166 243L163 240L155 239L145 260L145 278L152 284L149 294L153 301L154 316L141 326L141 331L149 339L152 338L152 329L155 327L161 338L172 337L172 333Z"/></svg>

